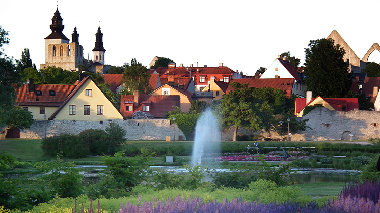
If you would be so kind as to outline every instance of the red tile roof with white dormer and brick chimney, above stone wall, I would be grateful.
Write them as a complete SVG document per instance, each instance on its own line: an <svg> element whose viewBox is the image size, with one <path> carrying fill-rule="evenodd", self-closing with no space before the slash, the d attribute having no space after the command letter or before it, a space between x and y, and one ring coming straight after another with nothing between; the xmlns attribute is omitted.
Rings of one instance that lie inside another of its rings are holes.
<svg viewBox="0 0 380 213"><path fill-rule="evenodd" d="M173 106L180 106L179 96L148 96L139 94L139 105L133 105L133 111L126 111L126 106L134 103L134 95L122 95L120 111L124 117L131 117L134 112L143 111L143 103L150 104L151 114L155 118L164 118L168 111L174 111Z"/></svg>

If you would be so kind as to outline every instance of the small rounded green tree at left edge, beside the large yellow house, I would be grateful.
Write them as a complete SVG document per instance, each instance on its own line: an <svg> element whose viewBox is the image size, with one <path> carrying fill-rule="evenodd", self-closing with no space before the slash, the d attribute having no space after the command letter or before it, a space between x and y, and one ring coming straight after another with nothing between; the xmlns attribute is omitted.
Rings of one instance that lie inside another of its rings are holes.
<svg viewBox="0 0 380 213"><path fill-rule="evenodd" d="M5 130L0 131L0 134L5 132L5 135L7 135L8 130L13 127L17 127L18 129L28 129L34 123L32 112L23 110L19 106L13 107L9 113L10 116L8 116L4 122L7 127Z"/></svg>

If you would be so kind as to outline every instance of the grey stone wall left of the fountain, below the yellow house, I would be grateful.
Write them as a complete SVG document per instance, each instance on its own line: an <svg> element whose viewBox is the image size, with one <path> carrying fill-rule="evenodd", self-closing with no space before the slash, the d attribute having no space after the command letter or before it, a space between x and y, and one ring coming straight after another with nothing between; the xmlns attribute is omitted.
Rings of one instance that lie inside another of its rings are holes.
<svg viewBox="0 0 380 213"><path fill-rule="evenodd" d="M175 139L178 140L178 136L182 136L185 140L183 132L178 129L177 125L171 125L167 119L155 119L155 120L137 120L127 119L120 120L114 119L113 123L119 124L127 132L128 140L165 140L166 136L171 136L173 140L173 134ZM99 121L77 121L77 120L36 120L36 122L28 130L20 131L20 138L28 139L42 139L45 137L45 125L46 125L46 137L66 134L79 134L83 130L87 129L105 129L108 127L108 121L104 121L100 124ZM173 132L174 129L174 132Z"/></svg>

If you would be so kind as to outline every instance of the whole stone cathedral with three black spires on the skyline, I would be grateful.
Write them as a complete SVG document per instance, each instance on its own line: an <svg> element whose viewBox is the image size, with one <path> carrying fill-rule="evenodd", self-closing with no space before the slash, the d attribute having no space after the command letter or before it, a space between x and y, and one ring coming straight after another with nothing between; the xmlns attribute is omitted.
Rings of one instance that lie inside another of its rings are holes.
<svg viewBox="0 0 380 213"><path fill-rule="evenodd" d="M83 47L79 45L79 34L76 27L71 34L70 40L62 33L65 26L62 24L60 12L54 13L51 19L51 34L45 38L45 64L41 64L40 68L48 66L61 67L64 70L78 71L79 66L83 65L88 71L93 73L105 73L110 69L110 65L104 64L103 33L100 27L95 34L94 61L83 57Z"/></svg>

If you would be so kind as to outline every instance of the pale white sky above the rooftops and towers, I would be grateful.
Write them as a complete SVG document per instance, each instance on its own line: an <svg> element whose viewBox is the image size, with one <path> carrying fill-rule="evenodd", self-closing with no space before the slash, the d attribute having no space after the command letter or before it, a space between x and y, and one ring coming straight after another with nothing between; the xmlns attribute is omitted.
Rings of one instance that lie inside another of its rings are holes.
<svg viewBox="0 0 380 213"><path fill-rule="evenodd" d="M20 59L28 48L39 68L45 63L44 38L51 33L57 1L0 0L0 5L0 25L10 39L5 53ZM363 58L373 43L380 43L377 8L378 0L58 1L63 34L71 40L77 28L86 59L89 54L93 58L100 26L108 65L136 58L149 67L159 56L186 67L223 63L248 75L287 51L303 65L310 40L326 38L334 29ZM380 63L380 52L374 51L369 61Z"/></svg>

